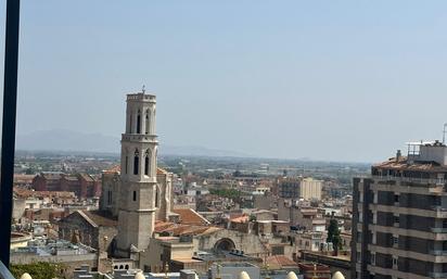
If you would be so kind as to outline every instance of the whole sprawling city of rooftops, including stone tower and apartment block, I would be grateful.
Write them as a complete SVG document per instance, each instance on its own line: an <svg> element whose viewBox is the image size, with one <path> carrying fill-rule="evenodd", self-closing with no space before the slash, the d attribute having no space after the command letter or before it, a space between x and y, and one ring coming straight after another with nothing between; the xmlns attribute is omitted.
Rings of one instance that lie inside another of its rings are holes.
<svg viewBox="0 0 447 279"><path fill-rule="evenodd" d="M158 155L156 97L126 101L119 156L17 152L13 265L75 279L447 277L444 142L372 166Z"/></svg>

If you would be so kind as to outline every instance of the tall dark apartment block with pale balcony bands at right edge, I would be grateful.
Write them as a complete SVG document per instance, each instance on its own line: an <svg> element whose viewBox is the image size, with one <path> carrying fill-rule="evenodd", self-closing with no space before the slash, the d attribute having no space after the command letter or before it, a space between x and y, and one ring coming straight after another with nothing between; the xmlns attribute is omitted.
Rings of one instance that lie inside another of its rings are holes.
<svg viewBox="0 0 447 279"><path fill-rule="evenodd" d="M447 147L408 150L354 179L352 278L447 278Z"/></svg>

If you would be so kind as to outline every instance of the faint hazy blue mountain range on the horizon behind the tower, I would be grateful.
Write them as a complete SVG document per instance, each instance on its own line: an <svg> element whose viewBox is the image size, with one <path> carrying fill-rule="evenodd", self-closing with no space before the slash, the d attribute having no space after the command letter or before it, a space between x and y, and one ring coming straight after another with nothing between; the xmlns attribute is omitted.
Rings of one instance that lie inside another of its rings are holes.
<svg viewBox="0 0 447 279"><path fill-rule="evenodd" d="M29 151L72 151L118 154L119 138L101 134L86 134L67 129L39 130L27 135L17 135L16 149ZM228 150L216 150L194 145L165 145L161 143L161 155L180 156L234 156L252 155Z"/></svg>

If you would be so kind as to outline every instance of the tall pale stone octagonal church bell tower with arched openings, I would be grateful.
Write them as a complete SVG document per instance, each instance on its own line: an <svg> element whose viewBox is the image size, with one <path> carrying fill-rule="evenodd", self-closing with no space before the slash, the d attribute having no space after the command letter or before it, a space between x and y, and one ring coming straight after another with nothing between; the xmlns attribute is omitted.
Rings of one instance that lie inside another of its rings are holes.
<svg viewBox="0 0 447 279"><path fill-rule="evenodd" d="M155 223L155 96L127 94L126 132L122 136L118 234L115 253L128 257L149 245Z"/></svg>

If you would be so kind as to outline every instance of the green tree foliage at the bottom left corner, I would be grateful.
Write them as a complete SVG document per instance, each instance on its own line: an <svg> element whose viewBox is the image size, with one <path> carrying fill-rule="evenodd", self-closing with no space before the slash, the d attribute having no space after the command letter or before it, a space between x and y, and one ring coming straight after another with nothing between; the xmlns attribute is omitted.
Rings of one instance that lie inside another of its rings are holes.
<svg viewBox="0 0 447 279"><path fill-rule="evenodd" d="M52 279L63 278L62 270L64 270L62 264L54 263L33 263L26 265L11 265L11 272L14 278L21 278L25 272L28 272L33 279Z"/></svg>

